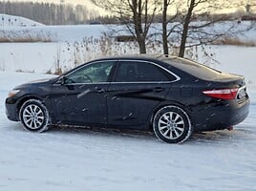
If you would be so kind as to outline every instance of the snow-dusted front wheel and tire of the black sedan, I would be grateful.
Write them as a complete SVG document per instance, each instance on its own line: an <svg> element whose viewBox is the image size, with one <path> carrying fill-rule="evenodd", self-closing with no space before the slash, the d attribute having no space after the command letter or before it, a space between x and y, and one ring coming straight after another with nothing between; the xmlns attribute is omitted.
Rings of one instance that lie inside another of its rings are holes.
<svg viewBox="0 0 256 191"><path fill-rule="evenodd" d="M51 121L48 109L37 99L29 99L23 103L19 118L24 129L38 133L47 131Z"/></svg>

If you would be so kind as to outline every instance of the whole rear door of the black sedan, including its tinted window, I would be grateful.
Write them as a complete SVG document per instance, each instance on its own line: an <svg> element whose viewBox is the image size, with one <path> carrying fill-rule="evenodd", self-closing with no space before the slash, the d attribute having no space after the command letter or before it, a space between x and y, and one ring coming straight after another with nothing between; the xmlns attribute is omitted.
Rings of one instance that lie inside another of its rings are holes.
<svg viewBox="0 0 256 191"><path fill-rule="evenodd" d="M119 61L108 90L108 123L130 128L148 124L153 109L167 95L172 77L154 63Z"/></svg>

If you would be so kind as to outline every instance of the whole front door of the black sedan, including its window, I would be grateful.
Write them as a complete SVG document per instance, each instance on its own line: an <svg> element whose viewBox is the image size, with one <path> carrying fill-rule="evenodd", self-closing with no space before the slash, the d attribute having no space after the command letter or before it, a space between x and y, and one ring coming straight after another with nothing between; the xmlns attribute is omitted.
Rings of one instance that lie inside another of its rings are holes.
<svg viewBox="0 0 256 191"><path fill-rule="evenodd" d="M54 117L59 123L105 124L106 95L114 61L87 64L65 76L52 91Z"/></svg>

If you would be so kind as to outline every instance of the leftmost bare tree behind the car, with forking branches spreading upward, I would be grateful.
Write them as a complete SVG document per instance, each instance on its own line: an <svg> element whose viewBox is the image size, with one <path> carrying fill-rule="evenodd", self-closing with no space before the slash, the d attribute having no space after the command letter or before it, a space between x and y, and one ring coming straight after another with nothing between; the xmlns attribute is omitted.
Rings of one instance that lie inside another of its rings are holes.
<svg viewBox="0 0 256 191"><path fill-rule="evenodd" d="M139 53L146 53L146 40L160 0L92 0L97 6L116 16L139 44Z"/></svg>

